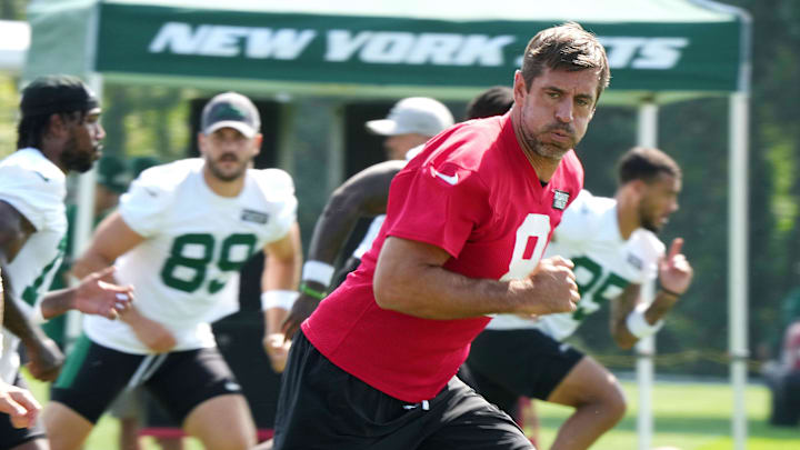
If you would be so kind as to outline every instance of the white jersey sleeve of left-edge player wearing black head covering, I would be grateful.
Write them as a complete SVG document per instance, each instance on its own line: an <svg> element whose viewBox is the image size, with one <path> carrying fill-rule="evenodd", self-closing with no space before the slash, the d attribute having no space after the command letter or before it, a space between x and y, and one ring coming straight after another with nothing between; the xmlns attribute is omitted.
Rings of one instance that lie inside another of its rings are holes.
<svg viewBox="0 0 800 450"><path fill-rule="evenodd" d="M37 229L53 211L62 212L63 193L58 180L19 166L0 167L0 200L12 206Z"/></svg>

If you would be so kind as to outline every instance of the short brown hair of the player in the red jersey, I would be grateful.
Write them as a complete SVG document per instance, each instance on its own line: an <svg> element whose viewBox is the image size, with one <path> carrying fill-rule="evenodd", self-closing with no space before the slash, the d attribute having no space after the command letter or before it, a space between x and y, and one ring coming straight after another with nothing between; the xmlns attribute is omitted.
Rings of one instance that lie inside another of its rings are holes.
<svg viewBox="0 0 800 450"><path fill-rule="evenodd" d="M611 79L606 49L594 34L577 22L541 30L528 42L522 56L522 79L527 89L546 68L569 71L599 69L596 103Z"/></svg>

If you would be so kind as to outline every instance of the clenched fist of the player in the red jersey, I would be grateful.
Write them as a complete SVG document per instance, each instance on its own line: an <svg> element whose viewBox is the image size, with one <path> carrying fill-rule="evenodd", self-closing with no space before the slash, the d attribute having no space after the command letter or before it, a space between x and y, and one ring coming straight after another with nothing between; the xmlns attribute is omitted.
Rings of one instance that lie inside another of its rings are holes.
<svg viewBox="0 0 800 450"><path fill-rule="evenodd" d="M574 311L580 293L573 267L572 261L561 257L546 258L527 279L512 281L521 296L517 313L541 316Z"/></svg>

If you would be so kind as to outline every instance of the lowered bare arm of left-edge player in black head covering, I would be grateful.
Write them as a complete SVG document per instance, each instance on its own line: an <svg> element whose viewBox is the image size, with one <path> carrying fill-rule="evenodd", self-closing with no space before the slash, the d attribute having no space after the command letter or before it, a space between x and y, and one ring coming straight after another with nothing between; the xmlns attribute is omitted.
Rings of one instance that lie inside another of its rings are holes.
<svg viewBox="0 0 800 450"><path fill-rule="evenodd" d="M58 346L22 312L18 299L10 289L13 280L8 276L6 266L14 259L28 238L36 231L31 222L14 207L0 200L0 271L4 291L3 327L16 334L26 346L30 357L29 369L39 380L50 381L58 376L63 354Z"/></svg>

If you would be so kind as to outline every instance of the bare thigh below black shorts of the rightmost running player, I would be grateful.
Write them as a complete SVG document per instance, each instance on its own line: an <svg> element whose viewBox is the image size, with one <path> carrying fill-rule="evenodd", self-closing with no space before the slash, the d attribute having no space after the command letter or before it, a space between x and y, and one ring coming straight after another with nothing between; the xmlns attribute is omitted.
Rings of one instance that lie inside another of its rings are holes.
<svg viewBox="0 0 800 450"><path fill-rule="evenodd" d="M626 402L617 377L588 356L570 370L547 401L573 408L596 402L624 408Z"/></svg>

